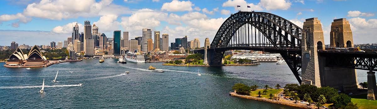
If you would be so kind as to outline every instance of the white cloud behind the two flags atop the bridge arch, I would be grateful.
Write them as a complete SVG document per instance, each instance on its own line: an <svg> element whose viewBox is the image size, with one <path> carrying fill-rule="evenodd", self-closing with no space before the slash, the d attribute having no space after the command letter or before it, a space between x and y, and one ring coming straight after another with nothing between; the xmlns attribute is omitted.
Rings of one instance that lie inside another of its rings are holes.
<svg viewBox="0 0 377 109"><path fill-rule="evenodd" d="M240 5L241 7L237 7L237 5ZM250 6L250 8L247 8L247 6ZM258 4L254 5L253 3L247 3L245 0L228 0L222 4L222 7L234 7L234 10L242 10L242 11L261 11L263 8Z"/></svg>

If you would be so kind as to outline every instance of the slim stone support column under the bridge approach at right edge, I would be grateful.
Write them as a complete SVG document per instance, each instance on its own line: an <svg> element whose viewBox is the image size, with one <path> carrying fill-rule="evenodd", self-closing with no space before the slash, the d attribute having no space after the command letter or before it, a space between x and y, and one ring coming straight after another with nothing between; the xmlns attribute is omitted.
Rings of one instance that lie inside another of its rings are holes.
<svg viewBox="0 0 377 109"><path fill-rule="evenodd" d="M368 100L376 100L377 96L377 86L376 86L376 76L375 72L366 72L368 74Z"/></svg>

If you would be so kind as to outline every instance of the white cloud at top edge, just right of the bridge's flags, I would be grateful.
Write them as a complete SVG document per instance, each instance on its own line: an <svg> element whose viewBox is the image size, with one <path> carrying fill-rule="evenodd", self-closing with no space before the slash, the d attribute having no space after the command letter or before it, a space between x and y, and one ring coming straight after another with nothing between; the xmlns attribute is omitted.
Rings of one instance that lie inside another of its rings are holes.
<svg viewBox="0 0 377 109"><path fill-rule="evenodd" d="M291 7L292 3L285 0L261 0L261 3L258 5L263 6L266 10L287 10Z"/></svg>

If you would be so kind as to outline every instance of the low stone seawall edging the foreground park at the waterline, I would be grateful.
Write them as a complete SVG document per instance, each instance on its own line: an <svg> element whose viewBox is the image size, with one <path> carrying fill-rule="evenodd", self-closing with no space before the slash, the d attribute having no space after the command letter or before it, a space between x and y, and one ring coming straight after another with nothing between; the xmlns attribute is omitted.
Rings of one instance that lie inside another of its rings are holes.
<svg viewBox="0 0 377 109"><path fill-rule="evenodd" d="M270 103L275 103L275 104L280 104L280 105L299 107L299 108L304 108L304 109L316 109L314 107L311 107L311 106L308 106L308 105L304 105L304 104L284 102L284 101L280 101L280 100L271 100L271 99L265 99L265 98L261 98L261 97L239 95L239 94L234 93L234 92L229 92L229 95L230 96L236 96L236 97L242 97L242 98L246 98L246 99L253 99L253 100L263 101L263 102L270 102Z"/></svg>

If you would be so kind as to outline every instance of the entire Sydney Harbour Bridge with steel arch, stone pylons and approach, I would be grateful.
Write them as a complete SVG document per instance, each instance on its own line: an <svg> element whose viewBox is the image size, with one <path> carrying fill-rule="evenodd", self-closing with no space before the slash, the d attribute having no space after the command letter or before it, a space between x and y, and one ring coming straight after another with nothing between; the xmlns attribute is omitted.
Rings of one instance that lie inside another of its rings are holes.
<svg viewBox="0 0 377 109"><path fill-rule="evenodd" d="M352 31L345 18L332 22L330 46L353 47ZM377 96L377 52L325 49L317 18L295 25L272 13L239 11L221 25L210 45L195 52L203 53L208 65L222 66L226 50L280 53L300 84L329 86L342 92L357 89L356 69L367 70L368 99L375 100Z"/></svg>

